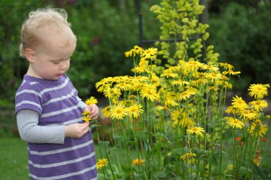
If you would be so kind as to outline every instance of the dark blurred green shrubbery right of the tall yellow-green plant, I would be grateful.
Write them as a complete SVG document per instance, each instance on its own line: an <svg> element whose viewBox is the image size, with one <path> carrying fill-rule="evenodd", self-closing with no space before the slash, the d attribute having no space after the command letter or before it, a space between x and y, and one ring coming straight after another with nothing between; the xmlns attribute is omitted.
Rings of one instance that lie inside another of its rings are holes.
<svg viewBox="0 0 271 180"><path fill-rule="evenodd" d="M242 80L235 81L237 90L251 83L270 83L270 8L266 0L253 6L232 2L220 14L210 14L209 42L215 45L221 61L242 72Z"/></svg>

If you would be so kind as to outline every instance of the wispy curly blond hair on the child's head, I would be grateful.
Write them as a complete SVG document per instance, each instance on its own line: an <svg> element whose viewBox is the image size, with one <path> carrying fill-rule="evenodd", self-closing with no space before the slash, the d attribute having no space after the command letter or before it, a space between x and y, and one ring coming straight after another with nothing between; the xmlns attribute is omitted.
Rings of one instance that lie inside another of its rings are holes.
<svg viewBox="0 0 271 180"><path fill-rule="evenodd" d="M68 15L64 9L37 9L31 11L29 18L21 27L20 55L25 57L26 48L36 49L48 43L51 33L58 33L66 38L68 44L76 45L76 36L71 31L71 23L67 21Z"/></svg>

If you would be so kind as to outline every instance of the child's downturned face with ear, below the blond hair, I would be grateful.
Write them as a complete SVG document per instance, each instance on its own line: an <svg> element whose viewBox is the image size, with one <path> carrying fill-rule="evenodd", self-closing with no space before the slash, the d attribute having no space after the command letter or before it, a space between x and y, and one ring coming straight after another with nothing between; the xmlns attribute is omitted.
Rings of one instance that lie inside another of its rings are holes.
<svg viewBox="0 0 271 180"><path fill-rule="evenodd" d="M57 80L70 67L71 55L75 50L75 45L67 46L63 39L51 38L46 46L40 48L41 51L35 52L31 69L36 78Z"/></svg>

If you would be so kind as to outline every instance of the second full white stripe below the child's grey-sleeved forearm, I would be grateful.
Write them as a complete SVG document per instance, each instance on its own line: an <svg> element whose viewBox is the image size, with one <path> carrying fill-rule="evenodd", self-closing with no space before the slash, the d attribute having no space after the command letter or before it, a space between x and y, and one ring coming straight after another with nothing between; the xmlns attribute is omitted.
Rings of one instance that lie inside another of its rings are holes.
<svg viewBox="0 0 271 180"><path fill-rule="evenodd" d="M29 164L31 164L32 166L34 166L36 168L50 168L50 167L63 166L66 164L73 164L73 163L81 162L83 160L90 159L94 155L95 155L95 152L92 152L91 154L88 154L87 156L84 156L84 157L79 157L78 159L72 159L72 160L68 160L65 162L56 162L56 163L52 163L52 164L34 164L32 161L29 160Z"/></svg>

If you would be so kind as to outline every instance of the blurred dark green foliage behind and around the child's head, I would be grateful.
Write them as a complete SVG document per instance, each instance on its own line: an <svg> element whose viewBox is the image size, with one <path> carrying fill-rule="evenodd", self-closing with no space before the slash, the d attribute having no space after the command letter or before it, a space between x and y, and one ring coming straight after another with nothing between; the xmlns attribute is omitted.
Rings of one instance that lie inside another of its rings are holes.
<svg viewBox="0 0 271 180"><path fill-rule="evenodd" d="M143 14L153 2L142 1ZM126 60L123 52L138 44L137 5L136 1L1 0L0 98L14 102L16 89L28 68L28 62L19 58L19 41L21 25L29 12L46 6L66 9L78 38L68 75L85 98L93 93L94 83L101 78L130 72L133 62ZM157 28L153 18L144 15L144 38L149 39L158 34Z"/></svg>

